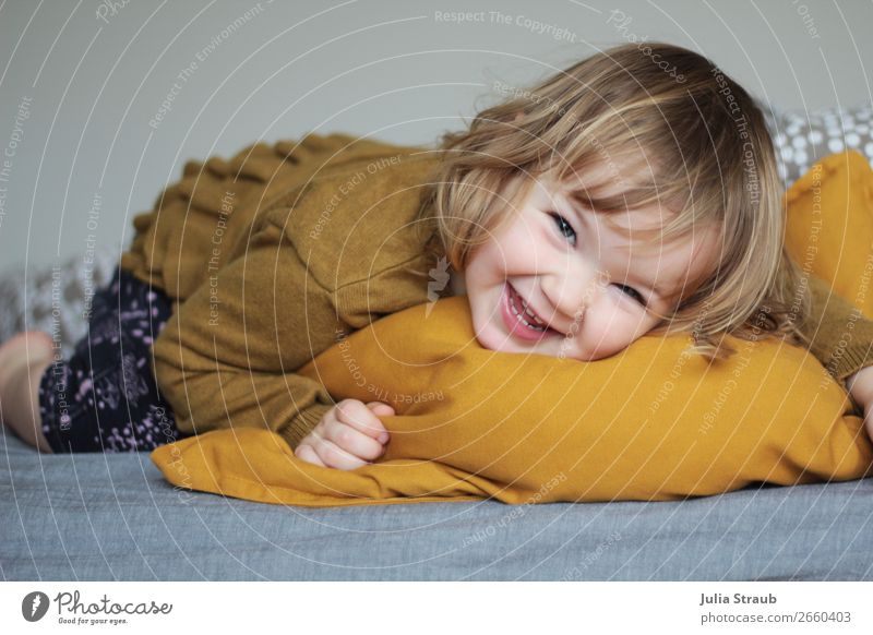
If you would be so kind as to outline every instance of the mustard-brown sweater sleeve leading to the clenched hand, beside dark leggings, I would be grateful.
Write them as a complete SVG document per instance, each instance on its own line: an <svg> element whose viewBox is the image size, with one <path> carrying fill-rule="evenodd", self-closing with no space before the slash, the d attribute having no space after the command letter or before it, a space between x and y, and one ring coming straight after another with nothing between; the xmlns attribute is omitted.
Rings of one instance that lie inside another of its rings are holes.
<svg viewBox="0 0 873 635"><path fill-rule="evenodd" d="M333 407L320 382L294 371L335 344L342 325L330 293L283 238L263 223L156 338L155 374L181 432L232 421L271 429L296 447Z"/></svg>

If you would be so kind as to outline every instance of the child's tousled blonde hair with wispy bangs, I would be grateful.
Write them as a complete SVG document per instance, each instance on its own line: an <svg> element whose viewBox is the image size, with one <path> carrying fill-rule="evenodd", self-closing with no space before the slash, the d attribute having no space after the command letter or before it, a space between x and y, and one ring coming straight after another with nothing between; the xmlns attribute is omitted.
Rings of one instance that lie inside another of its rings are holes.
<svg viewBox="0 0 873 635"><path fill-rule="evenodd" d="M690 352L710 361L736 352L726 334L809 344L798 327L809 297L794 297L801 272L784 245L782 184L764 115L703 56L661 43L599 52L480 111L468 130L443 134L440 149L421 219L435 223L429 252L455 271L514 216L534 179L635 168L619 194L605 194L615 180L606 179L572 195L613 227L613 213L663 205L671 214L660 228L634 230L655 232L654 241L711 226L721 239L711 265L686 281L672 314L656 314L649 334L690 333Z"/></svg>

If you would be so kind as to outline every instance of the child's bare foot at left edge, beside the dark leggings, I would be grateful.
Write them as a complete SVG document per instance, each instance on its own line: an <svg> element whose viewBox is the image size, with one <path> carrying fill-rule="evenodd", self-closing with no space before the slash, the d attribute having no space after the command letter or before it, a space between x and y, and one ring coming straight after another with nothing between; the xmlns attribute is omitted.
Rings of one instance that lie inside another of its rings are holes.
<svg viewBox="0 0 873 635"><path fill-rule="evenodd" d="M39 380L52 360L48 333L25 331L0 346L0 419L43 452L51 447L39 417Z"/></svg>

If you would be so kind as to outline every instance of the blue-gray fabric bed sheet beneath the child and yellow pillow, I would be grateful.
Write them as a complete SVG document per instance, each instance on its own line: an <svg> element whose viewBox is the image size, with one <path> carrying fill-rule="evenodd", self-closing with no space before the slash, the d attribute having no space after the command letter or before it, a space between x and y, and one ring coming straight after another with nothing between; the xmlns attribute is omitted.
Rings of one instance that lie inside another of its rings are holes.
<svg viewBox="0 0 873 635"><path fill-rule="evenodd" d="M675 503L286 507L0 428L7 580L866 580L873 479Z"/></svg>

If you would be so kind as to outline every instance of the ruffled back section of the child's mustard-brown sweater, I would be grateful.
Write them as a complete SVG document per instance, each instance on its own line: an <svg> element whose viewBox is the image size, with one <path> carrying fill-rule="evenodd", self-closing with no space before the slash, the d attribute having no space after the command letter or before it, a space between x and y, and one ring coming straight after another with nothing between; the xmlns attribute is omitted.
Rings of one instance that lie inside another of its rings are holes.
<svg viewBox="0 0 873 635"><path fill-rule="evenodd" d="M174 300L184 301L223 267L256 216L328 165L378 154L382 146L344 133L248 145L229 159L189 160L182 177L133 218L121 266ZM384 151L383 151L384 152Z"/></svg>

